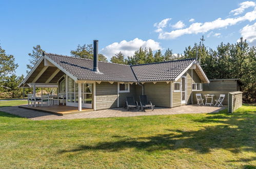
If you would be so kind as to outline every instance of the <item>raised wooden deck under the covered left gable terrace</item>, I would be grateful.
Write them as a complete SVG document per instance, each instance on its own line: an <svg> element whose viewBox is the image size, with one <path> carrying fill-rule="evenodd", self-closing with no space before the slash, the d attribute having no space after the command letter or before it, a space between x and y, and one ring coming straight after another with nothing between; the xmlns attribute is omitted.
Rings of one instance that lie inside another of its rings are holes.
<svg viewBox="0 0 256 169"><path fill-rule="evenodd" d="M19 105L19 108L32 109L32 110L47 112L47 113L61 115L61 116L67 115L67 114L75 114L75 113L93 111L93 109L87 109L87 108L82 108L82 111L78 111L78 108L69 107L66 105L50 105L50 106L43 105L43 107L41 107L41 106L31 107L28 104L26 104L26 105Z"/></svg>

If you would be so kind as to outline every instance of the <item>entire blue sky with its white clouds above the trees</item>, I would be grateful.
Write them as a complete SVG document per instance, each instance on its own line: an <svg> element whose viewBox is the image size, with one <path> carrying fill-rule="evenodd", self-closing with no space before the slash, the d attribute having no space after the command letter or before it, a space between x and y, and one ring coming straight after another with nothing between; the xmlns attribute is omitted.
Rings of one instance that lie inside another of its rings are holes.
<svg viewBox="0 0 256 169"><path fill-rule="evenodd" d="M130 55L140 46L183 53L202 35L206 46L214 49L241 36L252 46L256 44L254 8L253 1L233 0L2 0L0 43L7 54L14 55L17 75L26 74L28 53L36 45L49 53L70 55L78 44L98 39L100 53L108 58L119 51Z"/></svg>

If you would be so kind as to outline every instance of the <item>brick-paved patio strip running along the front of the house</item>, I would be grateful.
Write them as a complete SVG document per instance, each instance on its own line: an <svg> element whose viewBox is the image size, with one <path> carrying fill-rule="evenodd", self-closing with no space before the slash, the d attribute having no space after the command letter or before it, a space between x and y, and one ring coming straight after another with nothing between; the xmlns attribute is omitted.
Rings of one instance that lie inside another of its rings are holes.
<svg viewBox="0 0 256 169"><path fill-rule="evenodd" d="M0 111L26 117L31 120L60 120L60 119L81 119L81 118L105 118L105 117L132 117L132 116L150 116L150 115L169 115L169 114L193 114L193 113L214 113L226 109L226 107L210 107L198 105L183 105L175 108L155 108L154 111L146 110L145 112L124 108L106 109L99 111L90 111L77 114L68 114L65 116L53 115L50 113L23 108L2 107Z"/></svg>

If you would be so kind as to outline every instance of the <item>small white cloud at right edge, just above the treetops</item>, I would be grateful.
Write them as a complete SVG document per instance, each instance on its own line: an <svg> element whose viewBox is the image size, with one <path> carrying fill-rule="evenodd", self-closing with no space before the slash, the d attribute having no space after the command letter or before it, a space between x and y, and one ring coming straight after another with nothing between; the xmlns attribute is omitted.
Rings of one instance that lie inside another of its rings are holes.
<svg viewBox="0 0 256 169"><path fill-rule="evenodd" d="M253 25L246 25L240 30L240 33L250 45L256 45L256 23ZM240 39L238 41L240 41Z"/></svg>

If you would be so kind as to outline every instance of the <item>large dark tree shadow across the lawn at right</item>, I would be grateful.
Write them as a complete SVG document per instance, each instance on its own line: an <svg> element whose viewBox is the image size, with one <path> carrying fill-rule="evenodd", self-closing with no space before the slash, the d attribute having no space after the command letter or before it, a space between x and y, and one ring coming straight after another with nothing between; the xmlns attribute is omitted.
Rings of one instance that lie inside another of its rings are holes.
<svg viewBox="0 0 256 169"><path fill-rule="evenodd" d="M117 141L100 142L96 145L80 145L72 150L60 153L79 151L119 151L135 148L148 152L190 149L201 154L212 149L225 149L232 153L255 152L255 112L226 114L225 110L196 119L202 128L198 131L182 131L168 129L169 133L149 137L124 138L113 136ZM205 125L205 123L219 123ZM245 148L246 147L246 148Z"/></svg>

